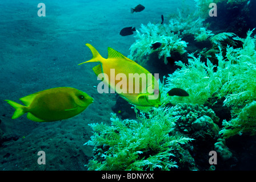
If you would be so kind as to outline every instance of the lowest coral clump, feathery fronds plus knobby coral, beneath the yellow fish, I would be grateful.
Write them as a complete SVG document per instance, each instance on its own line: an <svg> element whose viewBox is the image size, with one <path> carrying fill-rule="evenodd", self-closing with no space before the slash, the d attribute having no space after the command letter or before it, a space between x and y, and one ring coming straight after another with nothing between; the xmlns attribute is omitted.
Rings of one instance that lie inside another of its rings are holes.
<svg viewBox="0 0 256 182"><path fill-rule="evenodd" d="M137 120L121 121L112 113L111 121L111 126L90 125L94 135L85 144L94 146L94 157L89 170L206 170L209 166L197 164L202 159L197 151L204 148L207 157L219 137L219 118L202 105L161 106Z"/></svg>

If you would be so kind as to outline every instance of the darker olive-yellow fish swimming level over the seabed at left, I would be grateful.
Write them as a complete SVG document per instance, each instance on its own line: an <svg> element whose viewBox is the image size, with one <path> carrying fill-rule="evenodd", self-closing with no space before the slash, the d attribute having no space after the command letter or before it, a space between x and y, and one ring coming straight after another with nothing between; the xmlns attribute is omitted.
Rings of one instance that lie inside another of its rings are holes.
<svg viewBox="0 0 256 182"><path fill-rule="evenodd" d="M43 90L19 100L25 106L5 100L16 109L11 118L16 119L28 113L27 118L35 122L51 122L71 118L93 103L93 98L88 94L70 87Z"/></svg>

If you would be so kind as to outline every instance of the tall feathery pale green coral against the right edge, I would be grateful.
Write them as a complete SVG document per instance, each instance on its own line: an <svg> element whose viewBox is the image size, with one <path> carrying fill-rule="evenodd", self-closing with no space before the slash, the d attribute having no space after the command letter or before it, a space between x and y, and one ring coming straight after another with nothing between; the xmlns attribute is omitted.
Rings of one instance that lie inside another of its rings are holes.
<svg viewBox="0 0 256 182"><path fill-rule="evenodd" d="M251 37L253 31L247 32L246 39L241 40L242 48L227 47L225 60L229 75L220 90L226 94L224 104L241 108L256 98L256 36Z"/></svg>

